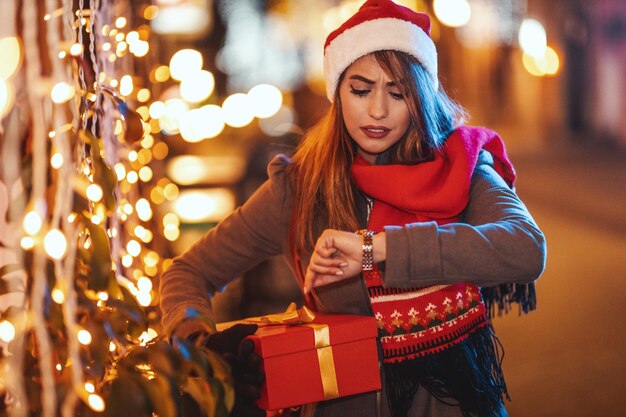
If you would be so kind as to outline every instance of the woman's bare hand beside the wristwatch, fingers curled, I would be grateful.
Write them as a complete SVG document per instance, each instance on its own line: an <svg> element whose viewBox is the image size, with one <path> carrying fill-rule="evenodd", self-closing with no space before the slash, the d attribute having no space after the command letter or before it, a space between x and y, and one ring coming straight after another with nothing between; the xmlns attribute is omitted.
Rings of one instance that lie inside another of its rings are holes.
<svg viewBox="0 0 626 417"><path fill-rule="evenodd" d="M362 264L360 235L326 229L315 243L304 277L304 292L358 275Z"/></svg>

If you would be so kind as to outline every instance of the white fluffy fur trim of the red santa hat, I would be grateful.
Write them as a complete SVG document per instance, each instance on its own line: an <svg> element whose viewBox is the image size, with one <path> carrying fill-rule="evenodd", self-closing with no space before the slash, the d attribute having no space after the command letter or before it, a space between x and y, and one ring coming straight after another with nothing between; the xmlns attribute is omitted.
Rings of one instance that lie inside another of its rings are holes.
<svg viewBox="0 0 626 417"><path fill-rule="evenodd" d="M365 21L346 29L326 47L324 76L326 95L332 102L341 74L354 61L371 52L402 51L413 55L431 75L435 88L437 78L437 49L432 39L417 25L402 19L381 18Z"/></svg>

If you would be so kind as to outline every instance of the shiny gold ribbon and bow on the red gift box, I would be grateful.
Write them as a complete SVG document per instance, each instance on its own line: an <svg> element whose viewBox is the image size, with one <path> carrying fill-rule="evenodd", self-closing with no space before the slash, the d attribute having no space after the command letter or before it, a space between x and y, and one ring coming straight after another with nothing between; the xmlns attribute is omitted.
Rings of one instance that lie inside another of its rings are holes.
<svg viewBox="0 0 626 417"><path fill-rule="evenodd" d="M296 308L296 303L289 304L289 307L279 314L269 314L262 317L252 317L246 319L248 323L255 323L260 326L272 326L284 324L288 326L301 325L313 329L315 335L315 349L320 365L320 376L322 377L322 389L324 399L330 400L339 396L339 386L337 385L337 375L335 373L335 361L333 359L333 347L330 345L330 330L327 324L313 323L315 313L306 306Z"/></svg>

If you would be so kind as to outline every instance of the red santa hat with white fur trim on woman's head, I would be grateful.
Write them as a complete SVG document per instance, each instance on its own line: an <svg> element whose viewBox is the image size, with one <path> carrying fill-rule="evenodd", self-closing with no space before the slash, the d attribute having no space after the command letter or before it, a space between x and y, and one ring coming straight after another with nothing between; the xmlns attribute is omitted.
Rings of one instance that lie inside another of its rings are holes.
<svg viewBox="0 0 626 417"><path fill-rule="evenodd" d="M326 95L335 99L341 74L360 57L374 51L394 50L414 56L437 79L437 49L430 38L430 19L424 13L391 0L368 0L324 44Z"/></svg>

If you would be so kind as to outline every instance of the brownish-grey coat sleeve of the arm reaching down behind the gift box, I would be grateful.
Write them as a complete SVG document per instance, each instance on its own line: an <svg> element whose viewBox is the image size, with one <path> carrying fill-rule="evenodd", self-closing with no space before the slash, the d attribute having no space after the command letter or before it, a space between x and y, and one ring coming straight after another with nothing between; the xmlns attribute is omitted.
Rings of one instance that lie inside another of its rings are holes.
<svg viewBox="0 0 626 417"><path fill-rule="evenodd" d="M285 168L278 156L268 167L270 178L238 209L174 258L160 281L160 307L166 334L186 337L202 330L187 319L188 308L212 318L211 296L261 261L282 253L286 241L289 199ZM287 220L285 220L287 219Z"/></svg>

